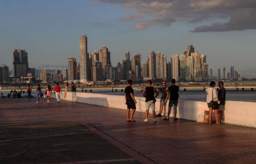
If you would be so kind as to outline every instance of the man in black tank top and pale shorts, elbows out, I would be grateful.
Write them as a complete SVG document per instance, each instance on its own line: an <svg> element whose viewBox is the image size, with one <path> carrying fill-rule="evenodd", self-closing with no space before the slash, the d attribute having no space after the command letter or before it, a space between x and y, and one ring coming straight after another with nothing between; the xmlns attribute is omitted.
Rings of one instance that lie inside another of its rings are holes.
<svg viewBox="0 0 256 164"><path fill-rule="evenodd" d="M154 96L154 92L156 95ZM151 106L154 122L156 122L156 112L155 112L155 98L159 95L158 91L152 86L152 81L148 80L148 86L143 90L142 96L146 98L146 119L144 122L148 122L149 107Z"/></svg>

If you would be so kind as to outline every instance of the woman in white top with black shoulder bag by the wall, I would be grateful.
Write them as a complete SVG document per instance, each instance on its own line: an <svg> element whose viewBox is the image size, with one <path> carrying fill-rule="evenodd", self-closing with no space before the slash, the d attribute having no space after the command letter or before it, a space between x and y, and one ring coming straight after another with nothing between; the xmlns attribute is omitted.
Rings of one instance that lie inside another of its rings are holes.
<svg viewBox="0 0 256 164"><path fill-rule="evenodd" d="M207 88L205 91L207 92L207 105L209 108L209 123L212 124L212 114L213 114L213 103L217 103L220 102L220 100L218 99L218 92L216 90L215 87L215 82L211 81L210 82L210 88ZM215 113L215 118L216 118L216 124L221 124L219 122L219 112L218 109L214 109L214 113Z"/></svg>

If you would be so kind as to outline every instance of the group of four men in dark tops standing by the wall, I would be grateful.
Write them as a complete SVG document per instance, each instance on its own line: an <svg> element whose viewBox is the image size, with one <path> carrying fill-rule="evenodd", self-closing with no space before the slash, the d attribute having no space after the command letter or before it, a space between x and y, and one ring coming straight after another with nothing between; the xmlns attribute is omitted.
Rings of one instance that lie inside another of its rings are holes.
<svg viewBox="0 0 256 164"><path fill-rule="evenodd" d="M174 114L175 114L175 118L174 120L178 120L176 118L177 115L177 106L178 106L178 91L179 91L179 87L175 85L175 79L172 79L172 84L171 86L166 86L166 81L163 81L163 92L162 92L162 97L161 97L161 102L160 102L160 111L159 114L156 115L155 112L155 102L157 96L159 95L157 89L155 89L152 86L152 81L148 80L148 86L143 90L142 96L146 98L146 118L144 120L144 122L148 122L148 115L149 115L149 107L151 107L152 109L152 113L153 113L153 117L154 117L154 122L156 122L156 117L162 117L161 113L163 112L163 106L166 105L167 100L169 98L170 95L170 100L169 100L169 109L168 109L168 115L166 118L164 118L163 120L169 120L169 115L171 113L171 109L172 106L174 105ZM127 121L131 121L131 122L136 122L133 119L134 116L134 112L136 110L136 103L137 101L134 98L134 91L132 89L132 81L128 80L128 86L125 88L125 100L126 100L126 105L127 105ZM154 96L154 93L156 93L156 95ZM130 110L132 109L131 112L131 117L129 116L130 114Z"/></svg>

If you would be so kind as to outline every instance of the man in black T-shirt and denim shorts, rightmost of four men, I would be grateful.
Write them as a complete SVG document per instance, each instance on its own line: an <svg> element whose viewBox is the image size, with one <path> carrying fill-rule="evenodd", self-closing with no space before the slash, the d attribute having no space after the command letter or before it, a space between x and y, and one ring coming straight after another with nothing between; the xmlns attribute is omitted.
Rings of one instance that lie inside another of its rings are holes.
<svg viewBox="0 0 256 164"><path fill-rule="evenodd" d="M175 85L175 79L172 79L172 84L168 88L166 88L166 92L169 92L170 100L169 100L169 109L168 115L163 120L169 120L169 116L171 114L172 106L174 105L174 120L178 120L177 115L177 106L178 106L178 98L179 98L179 86Z"/></svg>

